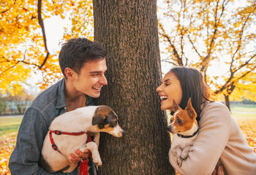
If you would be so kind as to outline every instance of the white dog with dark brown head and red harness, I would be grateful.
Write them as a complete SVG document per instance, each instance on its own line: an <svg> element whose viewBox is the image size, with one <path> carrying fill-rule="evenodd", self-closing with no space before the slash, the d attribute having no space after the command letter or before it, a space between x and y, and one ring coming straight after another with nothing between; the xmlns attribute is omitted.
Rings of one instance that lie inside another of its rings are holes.
<svg viewBox="0 0 256 175"><path fill-rule="evenodd" d="M95 136L94 141L86 144L86 133L79 136L52 133L52 139L60 151L58 152L52 147L50 131L90 132L95 133ZM76 149L80 149L82 152L89 149L94 163L101 166L102 160L98 151L99 132L110 133L116 137L124 136L124 131L118 125L118 117L109 106L86 106L61 114L50 124L48 134L45 136L39 160L40 166L51 173L71 172L78 167L78 163L69 161L70 154L74 153Z"/></svg>

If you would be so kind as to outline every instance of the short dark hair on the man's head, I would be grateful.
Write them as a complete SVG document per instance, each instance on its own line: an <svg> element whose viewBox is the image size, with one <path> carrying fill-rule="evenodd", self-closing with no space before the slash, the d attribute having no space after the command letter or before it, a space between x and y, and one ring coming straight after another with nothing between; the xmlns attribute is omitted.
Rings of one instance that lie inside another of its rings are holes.
<svg viewBox="0 0 256 175"><path fill-rule="evenodd" d="M91 42L86 38L69 39L62 45L59 53L61 72L66 77L64 71L69 67L79 74L84 63L100 61L105 59L106 55L105 49L99 42Z"/></svg>

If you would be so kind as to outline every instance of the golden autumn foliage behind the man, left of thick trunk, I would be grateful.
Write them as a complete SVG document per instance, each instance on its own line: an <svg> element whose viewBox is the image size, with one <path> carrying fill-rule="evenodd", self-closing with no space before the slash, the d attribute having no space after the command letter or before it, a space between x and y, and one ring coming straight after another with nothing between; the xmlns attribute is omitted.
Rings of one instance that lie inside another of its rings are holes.
<svg viewBox="0 0 256 175"><path fill-rule="evenodd" d="M62 77L57 54L50 53L45 31L44 20L53 15L71 21L60 42L78 36L93 38L91 0L0 2L1 93L22 91L32 72L42 74L42 89Z"/></svg>

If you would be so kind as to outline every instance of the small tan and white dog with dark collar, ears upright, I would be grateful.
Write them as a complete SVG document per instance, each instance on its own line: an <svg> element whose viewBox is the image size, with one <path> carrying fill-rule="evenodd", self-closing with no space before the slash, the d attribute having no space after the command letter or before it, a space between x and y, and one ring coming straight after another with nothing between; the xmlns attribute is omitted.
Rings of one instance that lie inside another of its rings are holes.
<svg viewBox="0 0 256 175"><path fill-rule="evenodd" d="M170 154L176 156L178 166L182 165L182 161L186 160L189 155L189 149L197 136L197 113L191 104L191 98L187 102L186 109L181 109L176 101L173 100L171 109L174 114L170 119L170 125L167 126L167 131L173 133L173 140L169 151Z"/></svg>

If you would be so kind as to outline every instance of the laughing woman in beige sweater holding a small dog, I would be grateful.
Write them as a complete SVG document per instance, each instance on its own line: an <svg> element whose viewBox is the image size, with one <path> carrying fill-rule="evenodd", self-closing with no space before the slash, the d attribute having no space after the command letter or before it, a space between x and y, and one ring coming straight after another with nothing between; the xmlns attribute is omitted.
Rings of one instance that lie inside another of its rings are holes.
<svg viewBox="0 0 256 175"><path fill-rule="evenodd" d="M170 163L181 174L215 174L218 160L222 163L218 173L256 174L256 155L246 142L241 130L224 104L210 100L210 92L203 75L196 69L176 67L165 75L157 88L161 109L170 109L173 99L184 109L189 97L197 112L199 133L189 157L182 166L170 154ZM223 167L223 171L221 171Z"/></svg>

